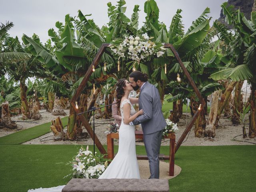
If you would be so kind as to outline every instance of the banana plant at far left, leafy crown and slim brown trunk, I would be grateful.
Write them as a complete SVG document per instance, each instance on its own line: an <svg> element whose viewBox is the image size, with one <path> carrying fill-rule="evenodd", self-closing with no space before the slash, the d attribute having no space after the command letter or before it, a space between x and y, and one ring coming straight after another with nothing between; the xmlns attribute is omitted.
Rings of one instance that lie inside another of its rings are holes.
<svg viewBox="0 0 256 192"><path fill-rule="evenodd" d="M37 36L33 36L37 39ZM20 82L20 98L22 106L22 118L30 119L30 111L27 101L27 86L25 81L28 77L46 77L47 74L38 59L20 44L18 38L8 37L5 40L5 52L1 53L1 62L6 65L6 72L14 80Z"/></svg>

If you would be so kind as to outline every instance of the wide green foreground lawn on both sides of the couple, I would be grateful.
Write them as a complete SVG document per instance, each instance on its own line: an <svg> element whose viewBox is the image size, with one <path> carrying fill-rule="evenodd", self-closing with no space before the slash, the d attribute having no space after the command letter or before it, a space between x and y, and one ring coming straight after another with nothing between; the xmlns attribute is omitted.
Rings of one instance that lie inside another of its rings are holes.
<svg viewBox="0 0 256 192"><path fill-rule="evenodd" d="M76 155L75 145L1 145L0 191L64 185L70 173L66 165ZM106 146L105 146L106 147ZM116 151L118 146L115 146ZM92 146L90 146L92 150ZM136 146L137 154L146 154ZM181 146L175 164L180 175L169 180L171 192L255 191L253 162L256 146ZM168 146L161 147L168 154Z"/></svg>

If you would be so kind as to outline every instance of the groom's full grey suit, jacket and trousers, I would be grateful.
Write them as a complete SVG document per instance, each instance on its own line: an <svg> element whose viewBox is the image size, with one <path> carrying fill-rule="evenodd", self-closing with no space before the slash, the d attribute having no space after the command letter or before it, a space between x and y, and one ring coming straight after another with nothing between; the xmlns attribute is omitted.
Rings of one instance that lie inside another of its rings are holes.
<svg viewBox="0 0 256 192"><path fill-rule="evenodd" d="M159 178L159 152L162 132L166 126L162 114L162 104L157 88L145 82L140 89L139 108L143 110L143 115L138 116L132 123L141 123L143 130L143 140L148 155L150 178Z"/></svg>

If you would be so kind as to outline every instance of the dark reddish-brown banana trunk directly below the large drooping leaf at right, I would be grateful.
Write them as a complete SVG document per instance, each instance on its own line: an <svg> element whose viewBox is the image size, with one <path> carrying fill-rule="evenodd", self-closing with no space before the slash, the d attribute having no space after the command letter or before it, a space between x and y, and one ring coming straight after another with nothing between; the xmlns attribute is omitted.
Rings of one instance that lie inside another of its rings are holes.
<svg viewBox="0 0 256 192"><path fill-rule="evenodd" d="M232 105L232 124L240 124L240 114L238 112L242 112L243 110L243 102L241 102L241 89L244 82L240 81L235 86L235 95L234 102Z"/></svg>

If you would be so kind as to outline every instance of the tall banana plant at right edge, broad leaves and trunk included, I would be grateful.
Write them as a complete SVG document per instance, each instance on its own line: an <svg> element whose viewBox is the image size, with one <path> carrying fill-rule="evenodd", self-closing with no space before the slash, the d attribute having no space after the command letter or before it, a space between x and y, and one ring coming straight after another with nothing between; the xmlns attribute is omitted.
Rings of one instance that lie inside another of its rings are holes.
<svg viewBox="0 0 256 192"><path fill-rule="evenodd" d="M219 71L212 74L214 80L231 79L232 81L248 80L251 85L251 104L249 136L256 136L256 12L251 13L251 19L247 20L240 10L235 11L233 6L227 3L222 4L224 15L228 24L232 24L234 33L229 32L222 24L214 22L218 36L225 42L225 60L230 65L219 68Z"/></svg>

